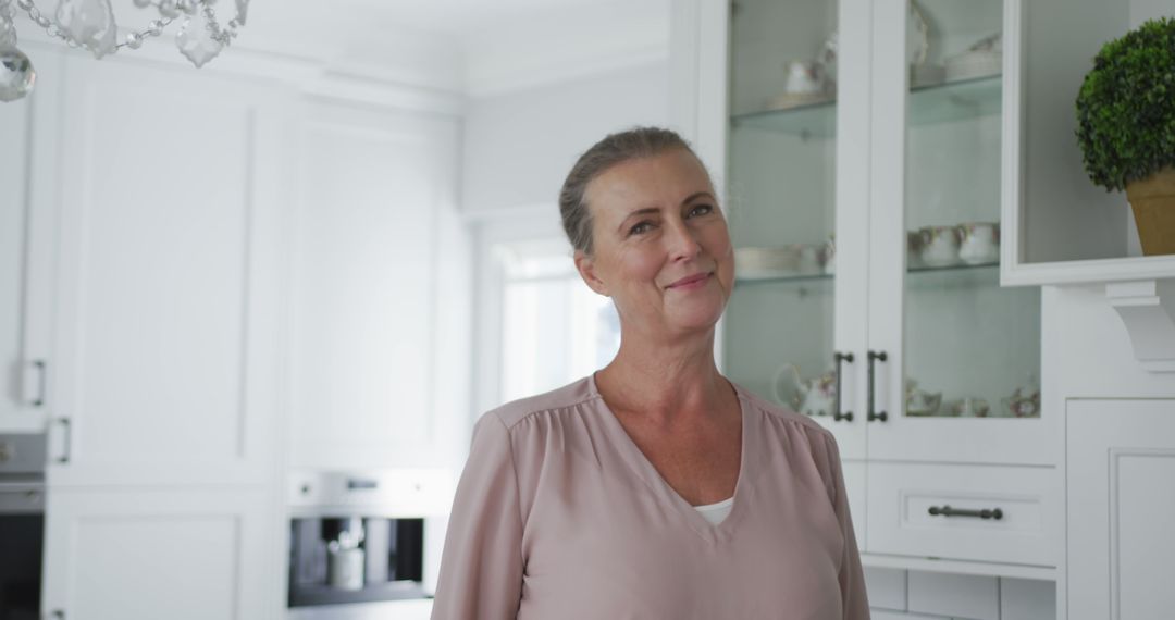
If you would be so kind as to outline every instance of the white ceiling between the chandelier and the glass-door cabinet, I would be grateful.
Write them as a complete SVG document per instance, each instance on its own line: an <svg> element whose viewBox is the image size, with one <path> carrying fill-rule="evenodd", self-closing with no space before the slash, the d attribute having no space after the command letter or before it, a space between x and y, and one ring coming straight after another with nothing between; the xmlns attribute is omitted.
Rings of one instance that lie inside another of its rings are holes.
<svg viewBox="0 0 1175 620"><path fill-rule="evenodd" d="M667 58L670 2L254 0L239 43L478 96Z"/></svg>

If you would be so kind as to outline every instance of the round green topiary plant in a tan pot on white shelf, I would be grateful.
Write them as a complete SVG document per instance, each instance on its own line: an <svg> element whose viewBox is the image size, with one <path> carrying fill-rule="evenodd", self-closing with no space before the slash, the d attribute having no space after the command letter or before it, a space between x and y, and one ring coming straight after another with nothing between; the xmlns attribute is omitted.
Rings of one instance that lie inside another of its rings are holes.
<svg viewBox="0 0 1175 620"><path fill-rule="evenodd" d="M1175 254L1175 19L1106 43L1077 95L1089 177L1126 189L1146 255Z"/></svg>

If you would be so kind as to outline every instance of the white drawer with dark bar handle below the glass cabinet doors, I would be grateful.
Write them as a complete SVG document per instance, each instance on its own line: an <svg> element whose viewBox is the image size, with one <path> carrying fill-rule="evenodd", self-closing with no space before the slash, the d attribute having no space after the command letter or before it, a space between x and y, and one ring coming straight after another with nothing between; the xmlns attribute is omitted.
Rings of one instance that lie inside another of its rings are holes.
<svg viewBox="0 0 1175 620"><path fill-rule="evenodd" d="M871 463L866 546L871 553L1056 566L1060 490L1053 467ZM946 507L966 512L946 515ZM971 514L995 510L999 519Z"/></svg>

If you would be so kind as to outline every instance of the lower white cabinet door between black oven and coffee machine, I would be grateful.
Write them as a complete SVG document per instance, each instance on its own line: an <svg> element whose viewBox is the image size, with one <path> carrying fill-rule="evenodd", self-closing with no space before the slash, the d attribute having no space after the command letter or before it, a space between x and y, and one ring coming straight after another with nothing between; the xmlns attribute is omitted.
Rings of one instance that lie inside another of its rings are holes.
<svg viewBox="0 0 1175 620"><path fill-rule="evenodd" d="M263 518L268 492L54 491L46 510L46 618L277 618L280 551Z"/></svg>

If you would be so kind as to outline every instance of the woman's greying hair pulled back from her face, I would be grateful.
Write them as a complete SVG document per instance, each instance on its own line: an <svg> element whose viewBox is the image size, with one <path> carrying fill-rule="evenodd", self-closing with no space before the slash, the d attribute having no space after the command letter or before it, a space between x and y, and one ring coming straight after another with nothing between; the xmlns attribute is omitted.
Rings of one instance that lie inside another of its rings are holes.
<svg viewBox="0 0 1175 620"><path fill-rule="evenodd" d="M685 150L697 157L689 142L677 132L660 127L636 127L609 134L580 155L568 173L568 178L563 181L563 189L559 190L563 230L568 234L572 249L586 255L592 252L591 211L588 210L584 196L588 183L618 163L653 157L674 149Z"/></svg>

